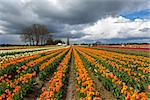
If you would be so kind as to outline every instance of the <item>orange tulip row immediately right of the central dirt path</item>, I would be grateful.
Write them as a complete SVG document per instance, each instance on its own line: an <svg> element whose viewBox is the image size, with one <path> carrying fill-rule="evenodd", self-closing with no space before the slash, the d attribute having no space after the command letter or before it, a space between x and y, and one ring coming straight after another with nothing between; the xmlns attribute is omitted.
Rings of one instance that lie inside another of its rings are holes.
<svg viewBox="0 0 150 100"><path fill-rule="evenodd" d="M76 76L76 90L79 93L80 99L86 100L101 100L99 91L96 89L93 80L89 77L82 60L77 51L73 49L75 76Z"/></svg>

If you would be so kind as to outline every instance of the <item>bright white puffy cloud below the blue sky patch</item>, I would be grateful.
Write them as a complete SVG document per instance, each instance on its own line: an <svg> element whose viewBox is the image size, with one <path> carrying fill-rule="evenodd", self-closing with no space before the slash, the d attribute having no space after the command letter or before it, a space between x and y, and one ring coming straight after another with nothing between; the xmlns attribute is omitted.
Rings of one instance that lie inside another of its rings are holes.
<svg viewBox="0 0 150 100"><path fill-rule="evenodd" d="M146 29L145 31L141 31ZM112 38L132 38L150 37L150 20L135 19L129 20L122 16L107 17L98 20L89 27L85 27L82 32L90 34L82 39L112 39Z"/></svg>

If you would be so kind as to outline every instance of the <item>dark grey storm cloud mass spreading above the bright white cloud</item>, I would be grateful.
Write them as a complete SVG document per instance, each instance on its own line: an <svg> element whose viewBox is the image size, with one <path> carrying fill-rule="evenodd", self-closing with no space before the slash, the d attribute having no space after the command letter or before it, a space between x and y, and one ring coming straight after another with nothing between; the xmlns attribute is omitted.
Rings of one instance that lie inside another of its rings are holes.
<svg viewBox="0 0 150 100"><path fill-rule="evenodd" d="M93 24L106 16L148 9L146 0L0 0L0 33L20 33L33 23L45 24L56 37ZM66 27L68 26L68 27ZM13 38L13 37L12 37ZM9 40L9 39L8 39Z"/></svg>

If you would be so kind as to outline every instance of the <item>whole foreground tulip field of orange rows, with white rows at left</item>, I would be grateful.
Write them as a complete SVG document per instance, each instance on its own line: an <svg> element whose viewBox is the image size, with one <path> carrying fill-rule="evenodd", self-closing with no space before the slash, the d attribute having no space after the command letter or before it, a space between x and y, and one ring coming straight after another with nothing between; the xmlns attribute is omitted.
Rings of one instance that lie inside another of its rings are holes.
<svg viewBox="0 0 150 100"><path fill-rule="evenodd" d="M0 100L149 99L149 56L84 46L0 50Z"/></svg>

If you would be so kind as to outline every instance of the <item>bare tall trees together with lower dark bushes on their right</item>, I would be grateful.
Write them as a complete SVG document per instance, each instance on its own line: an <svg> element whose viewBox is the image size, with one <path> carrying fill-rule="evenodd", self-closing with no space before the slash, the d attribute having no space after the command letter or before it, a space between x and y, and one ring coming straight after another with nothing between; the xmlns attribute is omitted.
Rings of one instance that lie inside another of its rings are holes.
<svg viewBox="0 0 150 100"><path fill-rule="evenodd" d="M55 45L57 43L64 43L61 40L53 40L47 26L41 24L33 24L24 28L21 40L29 43L29 45Z"/></svg>

